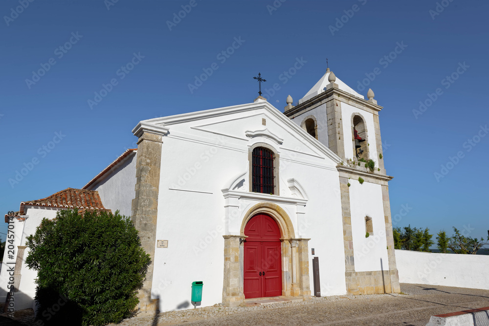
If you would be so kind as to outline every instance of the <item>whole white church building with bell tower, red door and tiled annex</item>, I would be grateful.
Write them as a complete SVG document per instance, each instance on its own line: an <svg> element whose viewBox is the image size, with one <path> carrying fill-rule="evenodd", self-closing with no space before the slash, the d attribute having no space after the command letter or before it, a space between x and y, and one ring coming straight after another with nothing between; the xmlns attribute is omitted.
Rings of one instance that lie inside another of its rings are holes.
<svg viewBox="0 0 489 326"><path fill-rule="evenodd" d="M142 309L188 306L194 281L203 282L202 306L399 292L382 107L367 96L328 69L297 106L289 96L285 112L259 96L139 122L137 150L83 189L21 203L11 217L23 230L18 257L4 257L0 300L16 261L16 290L32 306L25 238L42 217L70 207L132 217L152 258Z"/></svg>

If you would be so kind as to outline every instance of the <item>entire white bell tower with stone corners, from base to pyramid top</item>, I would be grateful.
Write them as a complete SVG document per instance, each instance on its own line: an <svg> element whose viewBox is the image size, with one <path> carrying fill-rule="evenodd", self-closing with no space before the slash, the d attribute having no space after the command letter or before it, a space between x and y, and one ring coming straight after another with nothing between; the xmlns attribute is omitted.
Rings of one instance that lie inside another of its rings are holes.
<svg viewBox="0 0 489 326"><path fill-rule="evenodd" d="M331 218L343 222L349 294L400 292L387 184L392 177L384 169L378 119L382 107L374 96L369 89L365 100L328 68L298 105L292 105L289 95L284 112L340 158L341 217ZM363 253L370 235L382 244Z"/></svg>

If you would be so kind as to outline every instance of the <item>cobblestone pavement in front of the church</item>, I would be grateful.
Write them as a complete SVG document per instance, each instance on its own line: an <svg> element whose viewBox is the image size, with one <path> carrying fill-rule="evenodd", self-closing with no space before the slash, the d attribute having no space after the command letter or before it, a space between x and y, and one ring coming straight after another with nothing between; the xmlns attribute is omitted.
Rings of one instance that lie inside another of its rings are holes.
<svg viewBox="0 0 489 326"><path fill-rule="evenodd" d="M489 306L489 290L401 284L402 294L314 298L300 303L267 306L204 307L141 313L120 326L238 325L415 325L431 315Z"/></svg>

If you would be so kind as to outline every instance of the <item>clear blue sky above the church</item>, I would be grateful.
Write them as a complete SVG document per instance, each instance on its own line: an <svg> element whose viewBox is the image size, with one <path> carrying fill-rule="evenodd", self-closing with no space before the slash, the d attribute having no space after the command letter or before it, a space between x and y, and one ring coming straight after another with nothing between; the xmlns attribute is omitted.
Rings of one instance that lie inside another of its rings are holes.
<svg viewBox="0 0 489 326"><path fill-rule="evenodd" d="M258 72L295 103L328 58L384 107L395 226L487 237L487 1L114 1L1 1L1 214L83 187L140 120L252 102Z"/></svg>

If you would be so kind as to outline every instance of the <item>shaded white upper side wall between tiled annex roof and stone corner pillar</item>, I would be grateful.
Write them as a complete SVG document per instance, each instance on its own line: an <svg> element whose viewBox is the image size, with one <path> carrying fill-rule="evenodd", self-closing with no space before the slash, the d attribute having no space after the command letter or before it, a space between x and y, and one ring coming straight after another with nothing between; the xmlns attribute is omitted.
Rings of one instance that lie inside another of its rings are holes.
<svg viewBox="0 0 489 326"><path fill-rule="evenodd" d="M129 154L111 171L87 187L88 190L98 191L104 207L112 213L119 210L121 215L131 216L131 205L136 195L136 155L136 152Z"/></svg>

